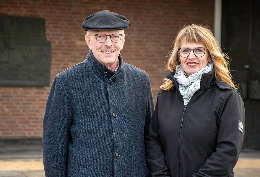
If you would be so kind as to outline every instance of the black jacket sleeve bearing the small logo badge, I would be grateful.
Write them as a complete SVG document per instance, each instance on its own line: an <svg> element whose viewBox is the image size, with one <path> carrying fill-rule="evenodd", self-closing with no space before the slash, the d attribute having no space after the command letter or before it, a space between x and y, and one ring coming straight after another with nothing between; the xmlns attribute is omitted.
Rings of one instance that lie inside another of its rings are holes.
<svg viewBox="0 0 260 177"><path fill-rule="evenodd" d="M243 131L238 129L242 121ZM220 108L216 151L192 177L229 176L238 161L245 134L245 109L241 96L231 91Z"/></svg>

